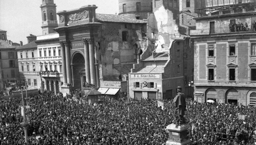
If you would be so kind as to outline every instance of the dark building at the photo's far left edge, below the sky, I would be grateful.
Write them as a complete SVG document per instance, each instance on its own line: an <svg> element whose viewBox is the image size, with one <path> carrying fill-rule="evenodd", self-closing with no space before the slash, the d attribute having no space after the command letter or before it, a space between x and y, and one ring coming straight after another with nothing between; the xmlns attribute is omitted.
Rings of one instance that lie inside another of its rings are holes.
<svg viewBox="0 0 256 145"><path fill-rule="evenodd" d="M0 63L1 63L1 85L0 89L9 86L9 83L15 83L19 80L17 52L15 50L17 45L12 41L7 40L7 31L0 30Z"/></svg>

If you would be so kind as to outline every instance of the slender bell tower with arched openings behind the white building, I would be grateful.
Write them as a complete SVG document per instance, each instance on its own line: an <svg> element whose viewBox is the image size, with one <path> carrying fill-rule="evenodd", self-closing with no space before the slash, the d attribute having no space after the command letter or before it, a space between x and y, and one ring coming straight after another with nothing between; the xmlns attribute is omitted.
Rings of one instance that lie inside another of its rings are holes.
<svg viewBox="0 0 256 145"><path fill-rule="evenodd" d="M56 33L53 29L58 27L56 5L53 0L42 0L40 6L42 11L42 32L43 35Z"/></svg>

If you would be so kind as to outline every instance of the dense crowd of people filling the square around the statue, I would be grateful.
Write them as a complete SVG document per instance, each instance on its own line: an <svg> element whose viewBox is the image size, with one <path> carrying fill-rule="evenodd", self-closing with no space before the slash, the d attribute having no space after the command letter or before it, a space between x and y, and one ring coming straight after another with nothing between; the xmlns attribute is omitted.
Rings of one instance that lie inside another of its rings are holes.
<svg viewBox="0 0 256 145"><path fill-rule="evenodd" d="M161 145L168 140L165 128L174 119L172 100L164 101L166 109L161 110L156 100L131 100L128 117L124 98L101 96L97 104L88 104L79 90L67 97L52 92L33 95L25 100L30 106L26 109L28 144ZM0 145L25 144L21 104L20 98L0 101ZM252 145L255 112L255 106L201 104L187 98L184 117L191 126L192 144ZM239 120L238 114L246 115L245 120Z"/></svg>

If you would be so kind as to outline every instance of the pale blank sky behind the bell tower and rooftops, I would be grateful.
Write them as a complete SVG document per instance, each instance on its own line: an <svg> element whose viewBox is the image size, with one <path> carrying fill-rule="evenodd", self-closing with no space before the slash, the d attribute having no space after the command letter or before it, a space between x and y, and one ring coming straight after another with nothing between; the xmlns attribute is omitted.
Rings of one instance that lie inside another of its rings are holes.
<svg viewBox="0 0 256 145"><path fill-rule="evenodd" d="M57 12L95 4L96 13L119 13L118 0L54 0ZM42 35L42 0L0 0L0 30L7 31L7 39L27 44L29 34ZM57 20L59 19L57 15Z"/></svg>

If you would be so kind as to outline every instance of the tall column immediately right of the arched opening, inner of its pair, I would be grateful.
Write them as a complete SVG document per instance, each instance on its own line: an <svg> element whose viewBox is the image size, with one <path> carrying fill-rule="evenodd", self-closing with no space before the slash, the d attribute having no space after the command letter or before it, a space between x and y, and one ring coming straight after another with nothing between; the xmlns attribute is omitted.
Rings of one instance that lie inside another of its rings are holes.
<svg viewBox="0 0 256 145"><path fill-rule="evenodd" d="M83 42L84 42L85 79L87 83L91 83L88 38L83 38Z"/></svg>

